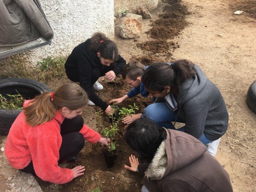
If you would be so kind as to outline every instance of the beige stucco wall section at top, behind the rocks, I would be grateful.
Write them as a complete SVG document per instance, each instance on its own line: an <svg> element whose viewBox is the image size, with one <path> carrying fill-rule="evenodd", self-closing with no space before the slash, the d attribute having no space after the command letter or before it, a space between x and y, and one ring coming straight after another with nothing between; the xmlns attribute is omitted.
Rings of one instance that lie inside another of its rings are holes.
<svg viewBox="0 0 256 192"><path fill-rule="evenodd" d="M137 8L145 7L149 11L154 10L158 6L158 0L114 0L114 15L118 12L126 10L127 12L136 13Z"/></svg>

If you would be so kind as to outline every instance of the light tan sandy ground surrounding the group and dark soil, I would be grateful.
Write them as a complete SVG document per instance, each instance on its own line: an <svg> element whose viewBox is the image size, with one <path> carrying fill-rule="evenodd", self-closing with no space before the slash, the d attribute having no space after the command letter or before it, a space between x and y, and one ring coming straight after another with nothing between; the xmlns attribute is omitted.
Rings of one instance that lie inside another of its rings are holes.
<svg viewBox="0 0 256 192"><path fill-rule="evenodd" d="M256 80L256 19L247 13L234 15L239 3L239 0L183 0L182 4L187 6L190 14L186 16L188 26L173 40L178 42L179 48L174 49L173 55L168 58L161 54L155 54L155 57L158 61L191 60L218 86L230 120L216 158L229 173L234 192L256 192L256 114L245 102L248 87ZM157 17L159 10L161 8L152 13L152 20ZM151 28L150 23L150 20L143 21L143 32L138 42L150 39L145 33ZM137 48L134 40L116 37L115 41L127 62L148 54ZM90 110L94 108L88 109L88 112ZM88 116L86 123L95 128L93 115ZM2 147L6 137L1 136L0 139ZM19 173L8 166L0 152L0 192L12 190L7 185L16 182L13 180L16 174ZM7 181L10 176L12 180Z"/></svg>

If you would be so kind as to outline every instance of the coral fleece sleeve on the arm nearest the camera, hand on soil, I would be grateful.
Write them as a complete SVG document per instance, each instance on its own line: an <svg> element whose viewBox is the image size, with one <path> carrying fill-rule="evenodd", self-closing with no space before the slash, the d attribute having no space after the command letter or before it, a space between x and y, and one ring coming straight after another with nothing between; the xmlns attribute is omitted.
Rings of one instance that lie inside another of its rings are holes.
<svg viewBox="0 0 256 192"><path fill-rule="evenodd" d="M72 171L58 166L62 143L59 125L57 122L42 125L34 127L27 139L36 175L54 184L70 182L73 179Z"/></svg>

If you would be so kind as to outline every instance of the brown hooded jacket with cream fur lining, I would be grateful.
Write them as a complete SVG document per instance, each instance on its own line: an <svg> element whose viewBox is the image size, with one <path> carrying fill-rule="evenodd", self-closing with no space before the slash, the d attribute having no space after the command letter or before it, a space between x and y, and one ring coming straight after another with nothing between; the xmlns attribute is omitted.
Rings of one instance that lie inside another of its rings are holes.
<svg viewBox="0 0 256 192"><path fill-rule="evenodd" d="M193 136L166 130L164 140L150 164L138 171L150 192L232 192L228 173Z"/></svg>

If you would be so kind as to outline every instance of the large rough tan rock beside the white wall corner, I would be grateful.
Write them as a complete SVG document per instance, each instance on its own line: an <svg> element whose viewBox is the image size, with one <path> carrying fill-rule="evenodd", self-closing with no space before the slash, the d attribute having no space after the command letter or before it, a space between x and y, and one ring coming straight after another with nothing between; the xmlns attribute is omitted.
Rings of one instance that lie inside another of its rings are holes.
<svg viewBox="0 0 256 192"><path fill-rule="evenodd" d="M119 35L124 39L140 37L142 23L136 19L125 18L119 26Z"/></svg>

